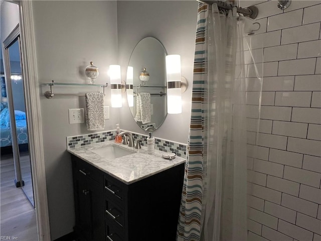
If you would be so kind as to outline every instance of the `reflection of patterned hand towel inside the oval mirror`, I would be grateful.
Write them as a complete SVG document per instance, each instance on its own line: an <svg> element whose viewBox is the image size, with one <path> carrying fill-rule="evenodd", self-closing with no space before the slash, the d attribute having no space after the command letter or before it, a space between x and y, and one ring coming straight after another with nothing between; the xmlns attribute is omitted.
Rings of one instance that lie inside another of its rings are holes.
<svg viewBox="0 0 321 241"><path fill-rule="evenodd" d="M136 122L150 122L150 93L138 93L136 96Z"/></svg>

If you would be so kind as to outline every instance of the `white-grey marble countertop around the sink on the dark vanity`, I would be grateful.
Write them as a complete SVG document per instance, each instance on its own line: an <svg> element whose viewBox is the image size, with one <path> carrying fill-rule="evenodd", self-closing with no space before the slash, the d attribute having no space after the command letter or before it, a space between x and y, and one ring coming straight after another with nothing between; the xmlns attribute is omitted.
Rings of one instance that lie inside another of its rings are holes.
<svg viewBox="0 0 321 241"><path fill-rule="evenodd" d="M117 145L120 148L129 149L134 153L109 160L107 157L102 157L92 151L110 145ZM165 159L162 157L164 152L158 150L155 150L153 155L149 155L147 154L147 146L135 149L127 145L116 144L114 141L101 142L79 148L69 148L67 151L125 184L131 184L170 169L185 163L186 160L178 156L172 160Z"/></svg>

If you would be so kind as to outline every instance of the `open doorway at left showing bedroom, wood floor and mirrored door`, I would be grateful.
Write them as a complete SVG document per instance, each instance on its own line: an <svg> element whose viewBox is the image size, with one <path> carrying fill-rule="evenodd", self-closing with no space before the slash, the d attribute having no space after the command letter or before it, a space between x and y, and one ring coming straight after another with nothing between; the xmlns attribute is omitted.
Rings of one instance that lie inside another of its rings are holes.
<svg viewBox="0 0 321 241"><path fill-rule="evenodd" d="M19 25L4 41L3 47L5 76L1 78L0 112L1 235L4 239L37 240Z"/></svg>

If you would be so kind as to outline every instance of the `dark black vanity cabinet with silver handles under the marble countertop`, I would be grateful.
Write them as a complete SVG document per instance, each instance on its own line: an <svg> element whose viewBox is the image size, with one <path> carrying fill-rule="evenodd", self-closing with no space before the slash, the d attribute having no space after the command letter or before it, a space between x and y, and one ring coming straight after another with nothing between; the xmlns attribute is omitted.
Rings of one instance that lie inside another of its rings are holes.
<svg viewBox="0 0 321 241"><path fill-rule="evenodd" d="M176 240L184 163L129 185L73 155L72 163L79 240Z"/></svg>

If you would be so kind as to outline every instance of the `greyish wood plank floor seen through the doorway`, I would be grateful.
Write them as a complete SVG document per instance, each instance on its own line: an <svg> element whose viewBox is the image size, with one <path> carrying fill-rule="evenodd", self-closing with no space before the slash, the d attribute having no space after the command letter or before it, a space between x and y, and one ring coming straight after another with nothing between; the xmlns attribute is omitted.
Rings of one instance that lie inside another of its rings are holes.
<svg viewBox="0 0 321 241"><path fill-rule="evenodd" d="M36 211L23 190L15 186L15 169L10 154L1 157L0 171L1 239L38 240Z"/></svg>

